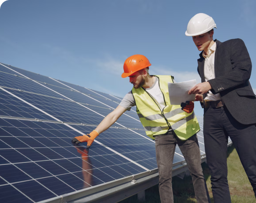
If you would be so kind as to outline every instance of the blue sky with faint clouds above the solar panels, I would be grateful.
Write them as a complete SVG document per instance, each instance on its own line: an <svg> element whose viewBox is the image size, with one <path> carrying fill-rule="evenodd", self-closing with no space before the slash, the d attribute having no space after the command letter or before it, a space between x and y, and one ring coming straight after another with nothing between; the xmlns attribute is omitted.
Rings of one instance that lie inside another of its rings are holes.
<svg viewBox="0 0 256 203"><path fill-rule="evenodd" d="M120 97L132 88L121 73L134 54L149 58L152 74L199 82L199 51L185 31L205 13L217 25L214 38L245 42L256 90L255 10L256 0L6 0L0 62ZM202 116L198 103L195 111Z"/></svg>

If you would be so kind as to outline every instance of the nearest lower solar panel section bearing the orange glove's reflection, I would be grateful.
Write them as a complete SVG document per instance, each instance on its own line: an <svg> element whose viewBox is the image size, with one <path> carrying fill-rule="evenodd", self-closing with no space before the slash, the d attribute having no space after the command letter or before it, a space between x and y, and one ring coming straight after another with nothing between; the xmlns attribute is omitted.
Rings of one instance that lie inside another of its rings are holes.
<svg viewBox="0 0 256 203"><path fill-rule="evenodd" d="M0 128L6 131L0 136L1 185L21 188L21 192L28 193L35 202L55 197L55 192L44 185L48 181L42 178L58 180L49 185L53 188L65 186L58 191L61 195L67 193L66 189L71 192L146 171L97 143L90 149L74 145L71 138L79 134L64 124L1 118ZM125 153L124 148L122 150ZM44 188L45 192L39 192L39 197L34 198L30 187Z"/></svg>

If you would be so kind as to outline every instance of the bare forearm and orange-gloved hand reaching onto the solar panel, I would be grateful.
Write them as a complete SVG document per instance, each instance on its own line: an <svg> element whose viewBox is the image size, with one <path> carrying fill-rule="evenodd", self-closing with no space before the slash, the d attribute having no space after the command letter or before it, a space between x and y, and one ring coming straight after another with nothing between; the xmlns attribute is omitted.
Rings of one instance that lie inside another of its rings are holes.
<svg viewBox="0 0 256 203"><path fill-rule="evenodd" d="M126 109L119 105L113 112L108 114L97 126L97 128L90 132L90 134L75 137L72 141L76 144L87 142L87 148L90 148L90 145L93 143L94 139L100 133L112 126L125 111Z"/></svg>

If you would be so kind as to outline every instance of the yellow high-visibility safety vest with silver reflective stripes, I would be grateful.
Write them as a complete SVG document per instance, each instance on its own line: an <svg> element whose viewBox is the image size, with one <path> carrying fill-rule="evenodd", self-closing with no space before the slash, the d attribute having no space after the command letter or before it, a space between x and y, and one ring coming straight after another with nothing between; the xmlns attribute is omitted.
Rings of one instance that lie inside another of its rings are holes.
<svg viewBox="0 0 256 203"><path fill-rule="evenodd" d="M163 111L143 87L132 89L136 112L146 134L154 140L156 135L167 134L169 129L172 129L181 140L187 140L200 131L194 111L188 114L181 110L181 105L170 103L168 82L173 83L171 75L154 76L158 78L159 87L164 96L166 106Z"/></svg>

